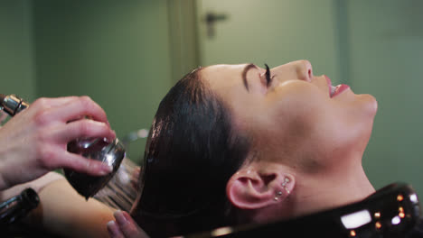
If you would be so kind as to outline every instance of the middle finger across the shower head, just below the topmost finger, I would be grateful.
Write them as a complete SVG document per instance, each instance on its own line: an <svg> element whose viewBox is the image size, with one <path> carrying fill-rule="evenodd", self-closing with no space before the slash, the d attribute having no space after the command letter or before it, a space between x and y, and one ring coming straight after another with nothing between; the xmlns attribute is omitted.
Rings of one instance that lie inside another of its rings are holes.
<svg viewBox="0 0 423 238"><path fill-rule="evenodd" d="M56 142L71 142L78 138L107 138L110 142L116 138L116 133L108 124L81 119L62 125L52 133L52 140Z"/></svg>

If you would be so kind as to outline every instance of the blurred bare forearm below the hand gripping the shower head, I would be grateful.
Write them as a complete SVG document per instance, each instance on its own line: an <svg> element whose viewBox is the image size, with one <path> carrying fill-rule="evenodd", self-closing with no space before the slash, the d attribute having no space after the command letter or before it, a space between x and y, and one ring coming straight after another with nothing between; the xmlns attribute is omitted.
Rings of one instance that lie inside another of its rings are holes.
<svg viewBox="0 0 423 238"><path fill-rule="evenodd" d="M81 197L64 179L43 188L40 206L27 223L63 237L108 237L107 223L114 210L99 201Z"/></svg>

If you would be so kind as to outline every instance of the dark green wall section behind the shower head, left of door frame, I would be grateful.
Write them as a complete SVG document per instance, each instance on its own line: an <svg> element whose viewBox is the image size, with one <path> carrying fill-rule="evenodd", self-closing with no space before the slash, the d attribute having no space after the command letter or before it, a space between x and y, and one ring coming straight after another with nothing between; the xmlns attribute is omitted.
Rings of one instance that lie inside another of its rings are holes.
<svg viewBox="0 0 423 238"><path fill-rule="evenodd" d="M118 136L148 129L173 83L166 7L164 0L34 2L37 96L88 95ZM129 158L137 160L134 150Z"/></svg>

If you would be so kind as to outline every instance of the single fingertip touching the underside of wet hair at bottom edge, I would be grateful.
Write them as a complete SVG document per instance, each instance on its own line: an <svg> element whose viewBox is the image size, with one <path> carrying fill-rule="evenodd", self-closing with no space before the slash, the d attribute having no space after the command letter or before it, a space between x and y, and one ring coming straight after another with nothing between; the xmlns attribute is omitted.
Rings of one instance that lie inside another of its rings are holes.
<svg viewBox="0 0 423 238"><path fill-rule="evenodd" d="M127 238L147 238L148 235L138 227L132 217L127 212L116 211L113 214L119 229Z"/></svg>

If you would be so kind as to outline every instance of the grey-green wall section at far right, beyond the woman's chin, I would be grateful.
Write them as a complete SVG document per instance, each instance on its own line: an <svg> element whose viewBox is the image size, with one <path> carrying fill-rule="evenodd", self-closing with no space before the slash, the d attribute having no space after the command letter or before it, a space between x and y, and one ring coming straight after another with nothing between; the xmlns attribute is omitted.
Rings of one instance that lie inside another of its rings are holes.
<svg viewBox="0 0 423 238"><path fill-rule="evenodd" d="M423 1L346 1L350 78L378 100L363 156L376 188L409 183L423 197Z"/></svg>

